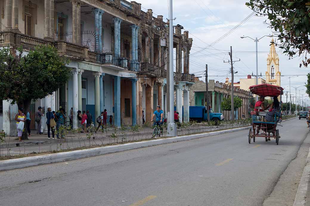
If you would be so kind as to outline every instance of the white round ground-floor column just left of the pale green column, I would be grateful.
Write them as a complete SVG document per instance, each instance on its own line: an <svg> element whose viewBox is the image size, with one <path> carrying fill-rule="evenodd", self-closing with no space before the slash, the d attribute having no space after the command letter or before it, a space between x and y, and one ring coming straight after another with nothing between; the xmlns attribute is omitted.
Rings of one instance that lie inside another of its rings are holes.
<svg viewBox="0 0 310 206"><path fill-rule="evenodd" d="M72 121L73 121L73 129L78 128L78 71L79 69L73 69L72 73Z"/></svg>

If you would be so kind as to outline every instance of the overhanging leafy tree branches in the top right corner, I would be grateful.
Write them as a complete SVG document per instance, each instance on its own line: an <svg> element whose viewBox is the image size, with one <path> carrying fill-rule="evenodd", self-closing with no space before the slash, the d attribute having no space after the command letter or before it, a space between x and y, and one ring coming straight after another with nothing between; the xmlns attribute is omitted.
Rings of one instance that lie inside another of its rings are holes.
<svg viewBox="0 0 310 206"><path fill-rule="evenodd" d="M283 53L290 57L296 53L299 56L306 53L302 64L305 67L310 64L310 59L307 58L307 53L310 52L309 0L250 0L246 5L257 15L268 16L270 22L267 24L277 34Z"/></svg>

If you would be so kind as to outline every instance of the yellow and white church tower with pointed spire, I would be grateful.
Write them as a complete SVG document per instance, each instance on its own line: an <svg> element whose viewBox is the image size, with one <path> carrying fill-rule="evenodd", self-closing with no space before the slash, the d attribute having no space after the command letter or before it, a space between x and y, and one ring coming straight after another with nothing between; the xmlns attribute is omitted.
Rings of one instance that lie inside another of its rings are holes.
<svg viewBox="0 0 310 206"><path fill-rule="evenodd" d="M281 86L281 72L279 71L279 57L272 38L270 52L267 58L266 83Z"/></svg>

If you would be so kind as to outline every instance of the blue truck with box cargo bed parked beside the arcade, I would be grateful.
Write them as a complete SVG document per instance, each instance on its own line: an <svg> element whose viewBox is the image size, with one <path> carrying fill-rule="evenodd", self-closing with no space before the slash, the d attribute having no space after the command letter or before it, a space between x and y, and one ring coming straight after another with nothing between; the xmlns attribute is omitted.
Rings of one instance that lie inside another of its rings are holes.
<svg viewBox="0 0 310 206"><path fill-rule="evenodd" d="M224 120L224 115L222 113L214 113L212 109L210 112L211 121L221 121ZM189 107L189 119L196 120L197 122L207 121L208 115L206 107L204 106L190 106Z"/></svg>

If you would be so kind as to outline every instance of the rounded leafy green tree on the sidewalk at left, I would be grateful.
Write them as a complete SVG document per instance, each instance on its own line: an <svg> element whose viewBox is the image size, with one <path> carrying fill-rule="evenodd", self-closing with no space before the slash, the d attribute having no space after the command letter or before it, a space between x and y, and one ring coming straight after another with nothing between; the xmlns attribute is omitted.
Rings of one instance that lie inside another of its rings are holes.
<svg viewBox="0 0 310 206"><path fill-rule="evenodd" d="M71 69L67 64L68 60L50 45L35 47L24 56L22 48L17 52L3 48L0 50L0 99L11 99L12 105L17 103L27 111L31 100L51 95L69 80ZM28 139L27 132L24 133L24 139Z"/></svg>

